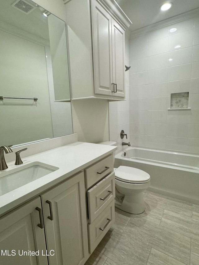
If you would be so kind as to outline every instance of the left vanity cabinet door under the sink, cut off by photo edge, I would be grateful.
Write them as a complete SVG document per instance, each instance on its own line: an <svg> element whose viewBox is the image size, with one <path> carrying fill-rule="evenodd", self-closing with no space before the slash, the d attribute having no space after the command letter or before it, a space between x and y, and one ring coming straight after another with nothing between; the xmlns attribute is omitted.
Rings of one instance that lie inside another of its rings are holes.
<svg viewBox="0 0 199 265"><path fill-rule="evenodd" d="M44 228L38 224L43 227L40 197L0 218L0 264L48 264Z"/></svg>

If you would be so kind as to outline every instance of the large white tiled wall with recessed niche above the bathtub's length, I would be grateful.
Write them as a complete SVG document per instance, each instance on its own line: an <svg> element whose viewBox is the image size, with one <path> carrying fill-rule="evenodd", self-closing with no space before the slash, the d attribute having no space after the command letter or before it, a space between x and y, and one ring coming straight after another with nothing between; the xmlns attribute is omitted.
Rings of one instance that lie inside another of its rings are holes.
<svg viewBox="0 0 199 265"><path fill-rule="evenodd" d="M199 16L131 39L130 65L131 144L199 152ZM168 110L187 91L191 110Z"/></svg>

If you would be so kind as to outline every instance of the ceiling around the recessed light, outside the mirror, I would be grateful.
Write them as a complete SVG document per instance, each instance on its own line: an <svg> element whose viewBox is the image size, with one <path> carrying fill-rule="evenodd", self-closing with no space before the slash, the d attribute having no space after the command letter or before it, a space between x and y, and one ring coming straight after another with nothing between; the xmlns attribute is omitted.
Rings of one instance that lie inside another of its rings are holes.
<svg viewBox="0 0 199 265"><path fill-rule="evenodd" d="M148 25L163 21L173 16L199 8L199 0L115 0L124 13L132 21L130 31L141 29ZM165 2L173 6L167 11L159 7Z"/></svg>

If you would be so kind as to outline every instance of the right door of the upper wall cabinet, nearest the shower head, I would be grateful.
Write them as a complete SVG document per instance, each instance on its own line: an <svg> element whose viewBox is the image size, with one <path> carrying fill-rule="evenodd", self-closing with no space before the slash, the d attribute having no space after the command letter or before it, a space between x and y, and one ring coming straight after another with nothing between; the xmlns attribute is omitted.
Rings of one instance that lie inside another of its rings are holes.
<svg viewBox="0 0 199 265"><path fill-rule="evenodd" d="M112 58L114 96L125 97L124 30L112 18Z"/></svg>

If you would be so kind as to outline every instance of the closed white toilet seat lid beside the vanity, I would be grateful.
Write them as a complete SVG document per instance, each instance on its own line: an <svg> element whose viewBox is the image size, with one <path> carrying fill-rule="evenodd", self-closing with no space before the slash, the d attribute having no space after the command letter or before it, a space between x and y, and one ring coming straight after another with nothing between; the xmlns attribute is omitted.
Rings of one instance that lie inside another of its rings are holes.
<svg viewBox="0 0 199 265"><path fill-rule="evenodd" d="M138 168L119 166L115 169L115 178L128 183L143 183L150 180L150 175Z"/></svg>

